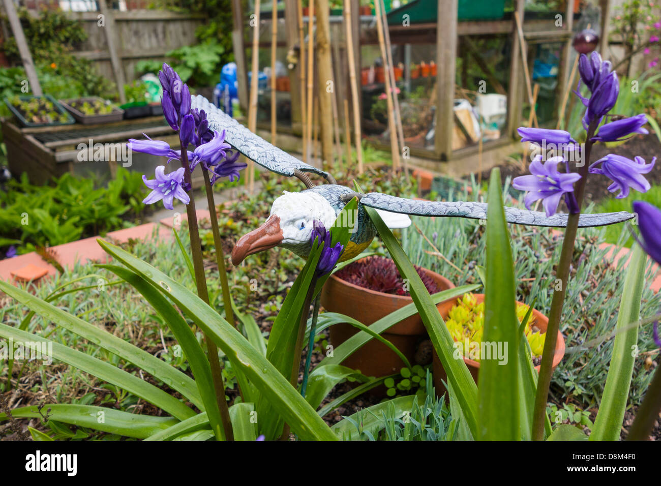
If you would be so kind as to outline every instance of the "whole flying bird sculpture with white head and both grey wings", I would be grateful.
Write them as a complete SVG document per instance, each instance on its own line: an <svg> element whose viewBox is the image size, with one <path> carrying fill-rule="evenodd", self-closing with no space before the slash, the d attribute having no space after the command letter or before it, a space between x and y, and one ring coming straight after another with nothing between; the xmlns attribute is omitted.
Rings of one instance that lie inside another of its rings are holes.
<svg viewBox="0 0 661 486"><path fill-rule="evenodd" d="M354 197L358 198L358 210L352 218L354 221L347 222L352 234L340 261L360 255L376 235L376 229L369 220L365 206L377 210L379 216L391 228L410 225L408 215L486 220L487 204L483 202L422 201L389 196L380 192L367 194L355 192L346 186L336 184L329 173L296 159L253 134L204 97L199 95L192 97L192 108L206 112L212 130L219 132L225 130L225 142L235 147L237 151L274 173L298 177L307 187L301 192L285 192L276 198L266 222L237 241L232 251L234 264L241 263L248 255L275 246L284 247L296 255L307 257L311 249L310 235L313 222L318 220L325 227L331 227L342 208ZM315 185L306 173L321 175L329 184ZM506 207L504 212L505 219L509 223L533 226L564 227L568 219L567 214L547 217L541 212L519 208ZM582 214L578 226L609 225L633 217L633 214L625 211Z"/></svg>

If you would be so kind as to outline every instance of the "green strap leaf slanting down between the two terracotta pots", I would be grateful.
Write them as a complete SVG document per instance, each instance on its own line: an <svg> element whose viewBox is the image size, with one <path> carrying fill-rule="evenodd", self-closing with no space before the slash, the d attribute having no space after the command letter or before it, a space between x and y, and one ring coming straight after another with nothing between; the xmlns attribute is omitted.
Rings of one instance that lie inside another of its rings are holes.
<svg viewBox="0 0 661 486"><path fill-rule="evenodd" d="M364 206L368 212L369 218L374 223L381 239L388 251L399 274L404 278L408 278L410 286L410 294L413 302L420 313L420 318L424 327L429 333L434 349L438 353L438 357L446 370L447 378L452 384L453 389L457 393L457 401L461 405L461 409L466 417L466 421L473 432L473 436L477 435L477 386L473 380L473 376L469 372L463 360L456 360L453 357L455 352L454 341L447 330L446 323L444 323L436 305L432 301L429 292L425 288L420 275L410 263L406 253L399 245L397 239L392 231L385 225L381 216L373 208Z"/></svg>

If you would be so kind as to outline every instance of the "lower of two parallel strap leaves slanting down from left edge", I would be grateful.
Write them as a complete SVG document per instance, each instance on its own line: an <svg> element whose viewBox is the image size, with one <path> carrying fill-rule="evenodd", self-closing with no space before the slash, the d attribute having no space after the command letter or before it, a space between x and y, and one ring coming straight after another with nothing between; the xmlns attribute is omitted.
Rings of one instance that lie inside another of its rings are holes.
<svg viewBox="0 0 661 486"><path fill-rule="evenodd" d="M184 420L195 415L194 411L186 407L184 403L181 403L172 395L165 393L165 391L141 380L135 375L116 368L116 366L110 363L93 358L84 352L71 349L63 344L48 341L25 331L19 331L19 329L5 324L0 324L0 337L13 339L15 343L20 342L26 350L39 350L43 349L43 346L52 346L52 357L54 359L96 376L99 380L117 385L156 405L177 419Z"/></svg>

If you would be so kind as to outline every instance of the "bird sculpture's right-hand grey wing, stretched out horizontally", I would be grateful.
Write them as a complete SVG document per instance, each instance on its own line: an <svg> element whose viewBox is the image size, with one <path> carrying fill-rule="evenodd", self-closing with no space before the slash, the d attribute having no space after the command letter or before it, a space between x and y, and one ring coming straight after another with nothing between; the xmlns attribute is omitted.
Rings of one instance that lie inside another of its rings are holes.
<svg viewBox="0 0 661 486"><path fill-rule="evenodd" d="M485 202L418 201L389 196L388 194L381 194L381 192L369 192L369 194L365 194L360 199L360 204L393 213L410 214L411 216L447 216L471 218L474 220L486 219L487 206ZM567 214L554 214L549 218L546 214L537 211L508 207L504 209L505 219L508 223L551 227L564 227L567 225ZM578 226L605 226L631 220L633 217L633 214L626 211L581 214L578 220Z"/></svg>

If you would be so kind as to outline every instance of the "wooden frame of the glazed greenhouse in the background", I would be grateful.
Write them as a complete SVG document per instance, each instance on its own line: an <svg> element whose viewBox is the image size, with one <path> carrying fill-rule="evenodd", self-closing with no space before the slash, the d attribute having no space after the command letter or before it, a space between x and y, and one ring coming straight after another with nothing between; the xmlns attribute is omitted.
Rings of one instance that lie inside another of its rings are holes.
<svg viewBox="0 0 661 486"><path fill-rule="evenodd" d="M351 2L352 12L358 12L359 0L347 0ZM600 26L593 26L600 32L607 32L607 22L609 20L611 0L600 0L602 19ZM297 32L297 1L284 0L286 20L286 42L279 42L278 47L292 47L298 42ZM242 108L247 108L247 70L248 64L245 58L246 48L251 46L244 41L243 14L241 13L241 0L232 0L233 15L235 19L233 31L233 48L237 62L237 77L239 81L239 101ZM452 130L454 126L453 106L455 99L455 62L457 58L457 44L460 36L481 35L481 34L508 34L511 38L512 56L510 56L509 77L510 86L507 97L507 122L505 132L498 140L490 140L482 144L481 163L479 167L486 170L494 165L502 163L506 155L512 153L513 149L520 147L515 145L516 128L521 125L524 104L527 100L525 87L524 69L522 66L522 57L520 55L520 40L516 27L514 15L512 19L502 20L468 20L459 21L457 16L458 0L438 0L438 20L436 23L413 24L411 26L389 26L391 44L436 44L436 132L434 140L434 149L423 149L410 147L410 155L415 157L415 165L426 167L428 169L440 171L443 173L467 173L477 171L476 155L480 150L479 145L469 145L461 149L453 150ZM522 23L522 30L525 42L560 42L563 44L561 55L556 96L560 100L568 79L573 61L572 58L572 37L574 27L574 0L566 0L566 9L562 15L562 26L555 26L555 18L548 19L526 19L525 18L525 0L514 0L514 11ZM454 15L448 15L453 13ZM264 16L263 16L264 17ZM270 24L270 19L262 17L263 26ZM268 16L266 16L268 17ZM280 12L282 18L282 12ZM304 19L307 21L307 17ZM354 38L354 53L356 54L356 74L360 76L362 67L360 46L373 44L377 42L374 36L360 35L360 19L357 15L352 19L352 32ZM343 25L342 25L343 26ZM280 28L278 29L280 30ZM332 19L331 19L332 34ZM343 30L343 28L342 28ZM307 29L306 29L307 32ZM331 36L332 36L331 34ZM334 49L340 51L344 49L344 37L339 40L332 36ZM602 36L600 51L607 45L607 38ZM270 43L260 43L260 48L268 48ZM346 56L340 56L338 65L337 58L334 56L333 69L335 73L336 86L339 99L350 99L350 89L348 82L344 83L342 73L346 73ZM289 71L292 87L297 86L299 73L298 67ZM282 128L278 126L278 134L301 134L300 125L300 95L298 90L292 89L292 128ZM361 101L359 100L359 103ZM343 119L343 113L338 113L338 117ZM268 129L266 125L258 124L258 128ZM555 127L554 127L555 128ZM278 139L282 141L281 138ZM379 148L389 150L385 143L372 143ZM292 147L284 147L290 149ZM443 164L451 162L451 164Z"/></svg>

